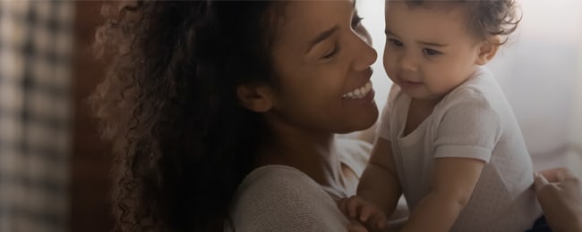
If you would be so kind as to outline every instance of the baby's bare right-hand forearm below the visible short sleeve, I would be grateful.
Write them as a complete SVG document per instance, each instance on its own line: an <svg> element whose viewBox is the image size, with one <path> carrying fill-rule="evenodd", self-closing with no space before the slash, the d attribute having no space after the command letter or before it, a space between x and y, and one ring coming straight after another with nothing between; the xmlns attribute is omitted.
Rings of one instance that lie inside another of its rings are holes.
<svg viewBox="0 0 582 232"><path fill-rule="evenodd" d="M429 194L401 231L449 231L470 199L484 164L470 158L437 158Z"/></svg>

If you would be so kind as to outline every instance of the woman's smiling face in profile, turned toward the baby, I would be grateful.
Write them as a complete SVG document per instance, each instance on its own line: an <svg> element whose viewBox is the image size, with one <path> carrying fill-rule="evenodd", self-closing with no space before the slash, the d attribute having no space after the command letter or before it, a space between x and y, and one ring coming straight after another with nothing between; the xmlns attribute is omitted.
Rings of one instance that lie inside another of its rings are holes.
<svg viewBox="0 0 582 232"><path fill-rule="evenodd" d="M290 2L277 23L270 118L322 133L370 127L378 117L370 82L377 54L354 0Z"/></svg>

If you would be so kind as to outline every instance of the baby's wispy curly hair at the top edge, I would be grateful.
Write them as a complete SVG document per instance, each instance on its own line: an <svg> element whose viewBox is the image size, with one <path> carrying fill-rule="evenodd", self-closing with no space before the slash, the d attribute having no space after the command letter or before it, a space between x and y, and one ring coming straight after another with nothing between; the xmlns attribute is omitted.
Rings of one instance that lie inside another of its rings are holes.
<svg viewBox="0 0 582 232"><path fill-rule="evenodd" d="M389 0L390 1L390 0ZM466 7L466 28L479 39L501 36L499 45L508 41L509 35L521 21L515 0L405 0L409 6L441 2L462 4Z"/></svg>

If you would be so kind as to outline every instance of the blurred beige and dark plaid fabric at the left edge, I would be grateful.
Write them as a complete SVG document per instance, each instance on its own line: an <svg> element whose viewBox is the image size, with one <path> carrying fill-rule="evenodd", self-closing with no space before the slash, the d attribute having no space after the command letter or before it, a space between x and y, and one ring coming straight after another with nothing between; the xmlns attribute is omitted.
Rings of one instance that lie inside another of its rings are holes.
<svg viewBox="0 0 582 232"><path fill-rule="evenodd" d="M73 3L0 0L0 231L66 231Z"/></svg>

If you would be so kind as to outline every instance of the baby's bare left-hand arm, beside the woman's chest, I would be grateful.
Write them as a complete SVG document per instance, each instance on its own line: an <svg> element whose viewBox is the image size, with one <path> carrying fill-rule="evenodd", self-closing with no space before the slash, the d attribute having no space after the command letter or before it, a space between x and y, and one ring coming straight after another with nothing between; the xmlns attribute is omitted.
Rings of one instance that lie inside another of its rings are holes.
<svg viewBox="0 0 582 232"><path fill-rule="evenodd" d="M378 137L372 148L372 157L366 166L357 195L378 206L390 216L402 195L390 142Z"/></svg>

